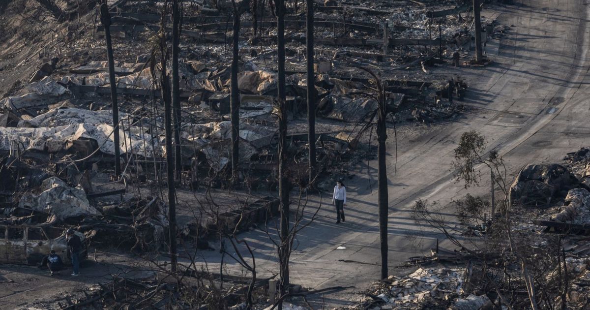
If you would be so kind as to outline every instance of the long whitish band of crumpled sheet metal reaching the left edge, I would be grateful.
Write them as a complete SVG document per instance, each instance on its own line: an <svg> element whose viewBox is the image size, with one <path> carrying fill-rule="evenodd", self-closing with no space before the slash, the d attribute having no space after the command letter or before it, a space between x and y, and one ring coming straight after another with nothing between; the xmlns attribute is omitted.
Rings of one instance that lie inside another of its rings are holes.
<svg viewBox="0 0 590 310"><path fill-rule="evenodd" d="M36 149L52 153L63 149L66 142L89 138L98 142L101 152L114 155L112 132L113 126L90 123L41 128L0 127L0 149L11 150L12 141L17 141L22 149ZM119 139L121 154L133 151L140 156L149 157L153 155L152 145L149 143L149 136L147 135L143 135L142 138L139 133L129 135L129 132L119 130Z"/></svg>

